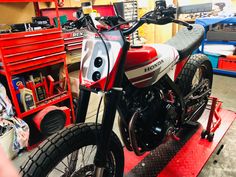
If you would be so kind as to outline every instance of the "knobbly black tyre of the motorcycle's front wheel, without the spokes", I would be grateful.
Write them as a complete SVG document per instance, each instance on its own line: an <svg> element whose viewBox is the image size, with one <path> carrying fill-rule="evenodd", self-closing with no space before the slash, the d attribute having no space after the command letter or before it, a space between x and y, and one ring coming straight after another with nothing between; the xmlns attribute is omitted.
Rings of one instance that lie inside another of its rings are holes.
<svg viewBox="0 0 236 177"><path fill-rule="evenodd" d="M98 126L98 129L100 128L101 126ZM85 137L96 136L95 130L96 126L92 123L71 125L62 129L49 137L29 156L27 162L21 166L20 174L22 177L46 176L47 169L54 167L58 163L58 160L61 160L60 158L62 156L65 157L76 150L78 145L75 145L75 142L80 142L81 144L83 141L88 141ZM115 133L112 133L111 136L111 149L115 150L116 154L119 155L119 164L123 168L123 147Z"/></svg>

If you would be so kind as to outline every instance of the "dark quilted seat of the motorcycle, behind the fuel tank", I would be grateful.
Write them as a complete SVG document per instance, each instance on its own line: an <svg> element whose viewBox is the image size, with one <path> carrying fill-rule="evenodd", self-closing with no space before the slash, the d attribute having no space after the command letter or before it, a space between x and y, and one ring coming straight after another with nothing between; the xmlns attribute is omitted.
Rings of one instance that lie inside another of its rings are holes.
<svg viewBox="0 0 236 177"><path fill-rule="evenodd" d="M174 47L179 52L180 59L186 58L196 50L204 38L204 27L197 24L192 26L192 30L188 30L187 27L182 28L173 38L166 42L166 44Z"/></svg>

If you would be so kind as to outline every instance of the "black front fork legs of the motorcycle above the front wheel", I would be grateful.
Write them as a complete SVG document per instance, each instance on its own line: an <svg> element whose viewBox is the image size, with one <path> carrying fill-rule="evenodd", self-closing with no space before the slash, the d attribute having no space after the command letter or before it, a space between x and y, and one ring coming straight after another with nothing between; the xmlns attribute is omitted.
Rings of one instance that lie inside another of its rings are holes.
<svg viewBox="0 0 236 177"><path fill-rule="evenodd" d="M107 154L109 152L109 142L112 134L112 128L114 125L116 108L120 100L122 90L112 89L105 94L104 99L104 112L102 117L102 128L98 135L97 140L97 152L94 159L95 177L103 177L103 170L106 167ZM90 98L90 91L80 89L80 95L78 100L78 110L76 111L76 123L84 123L88 103Z"/></svg>

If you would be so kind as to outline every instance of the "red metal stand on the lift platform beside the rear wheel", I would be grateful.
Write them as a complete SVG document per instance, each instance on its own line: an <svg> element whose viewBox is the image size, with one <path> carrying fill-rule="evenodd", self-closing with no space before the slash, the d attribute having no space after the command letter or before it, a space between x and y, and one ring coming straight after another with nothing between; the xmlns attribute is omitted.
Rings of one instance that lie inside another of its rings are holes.
<svg viewBox="0 0 236 177"><path fill-rule="evenodd" d="M219 111L222 106L222 102L218 100L218 98L211 97L211 110L207 122L207 127L201 133L201 138L207 138L209 142L213 141L215 131L221 124L221 117L219 116Z"/></svg>

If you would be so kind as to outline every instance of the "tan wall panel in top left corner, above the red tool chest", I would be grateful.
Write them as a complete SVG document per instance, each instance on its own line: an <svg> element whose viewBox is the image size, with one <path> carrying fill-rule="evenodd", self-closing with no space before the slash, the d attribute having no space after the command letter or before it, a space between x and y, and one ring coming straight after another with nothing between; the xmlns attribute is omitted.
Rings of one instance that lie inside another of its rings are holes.
<svg viewBox="0 0 236 177"><path fill-rule="evenodd" d="M0 24L31 22L35 16L33 3L0 3Z"/></svg>

